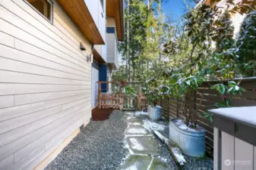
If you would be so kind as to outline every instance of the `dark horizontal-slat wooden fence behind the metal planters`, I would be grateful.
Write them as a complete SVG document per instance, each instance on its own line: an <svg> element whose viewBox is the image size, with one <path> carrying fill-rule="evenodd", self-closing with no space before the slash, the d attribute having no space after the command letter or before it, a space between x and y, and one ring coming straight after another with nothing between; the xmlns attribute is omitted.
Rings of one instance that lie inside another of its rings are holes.
<svg viewBox="0 0 256 170"><path fill-rule="evenodd" d="M256 106L256 78L233 79L233 81L242 81L240 86L245 88L246 91L242 95L238 94L232 96L232 94L227 94L227 96L231 98L232 107ZM228 81L223 81L225 84L227 82ZM195 94L194 103L196 109L200 113L204 113L207 110L216 108L213 105L224 100L218 91L210 89L211 85L215 85L217 83L220 82L204 82L203 85L198 88L198 91ZM177 102L177 99L175 98L166 98L164 100L160 100L160 106L163 107L163 116L166 119L174 119L177 117L180 119L185 119L185 115L183 114L183 100L181 100L181 102ZM177 110L179 111L177 112ZM201 125L201 127L206 129L206 150L207 153L213 155L213 125L210 120L204 118L204 116L198 117L198 125Z"/></svg>

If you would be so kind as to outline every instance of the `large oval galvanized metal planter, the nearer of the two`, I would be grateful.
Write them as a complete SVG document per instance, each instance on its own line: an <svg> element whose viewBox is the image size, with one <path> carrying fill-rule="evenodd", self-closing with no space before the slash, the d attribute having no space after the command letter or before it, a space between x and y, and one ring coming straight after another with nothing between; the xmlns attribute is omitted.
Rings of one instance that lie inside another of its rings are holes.
<svg viewBox="0 0 256 170"><path fill-rule="evenodd" d="M200 131L188 131L188 129L179 128L175 123L176 120L170 120L169 139L178 144L182 152L189 156L204 156L206 133L204 128L198 127Z"/></svg>

